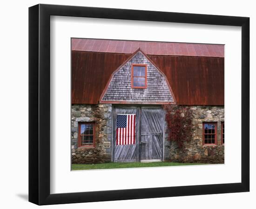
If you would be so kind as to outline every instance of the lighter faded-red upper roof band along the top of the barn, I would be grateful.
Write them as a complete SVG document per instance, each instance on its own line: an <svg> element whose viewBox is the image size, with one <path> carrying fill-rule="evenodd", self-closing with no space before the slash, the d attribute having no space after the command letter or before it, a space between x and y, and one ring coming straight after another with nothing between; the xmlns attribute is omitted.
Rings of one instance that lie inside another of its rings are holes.
<svg viewBox="0 0 256 209"><path fill-rule="evenodd" d="M71 39L72 51L132 54L138 48L148 55L224 57L224 45L108 39Z"/></svg>

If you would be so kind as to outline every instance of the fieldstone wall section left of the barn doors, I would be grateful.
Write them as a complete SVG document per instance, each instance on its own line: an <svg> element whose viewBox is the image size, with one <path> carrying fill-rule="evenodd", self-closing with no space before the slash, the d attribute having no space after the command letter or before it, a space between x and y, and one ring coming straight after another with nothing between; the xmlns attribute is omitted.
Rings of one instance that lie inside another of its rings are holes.
<svg viewBox="0 0 256 209"><path fill-rule="evenodd" d="M78 126L80 122L95 123L95 147L79 147ZM71 153L72 163L106 163L111 161L111 148L104 142L112 138L111 104L74 104L71 109ZM112 146L112 144L110 144Z"/></svg>

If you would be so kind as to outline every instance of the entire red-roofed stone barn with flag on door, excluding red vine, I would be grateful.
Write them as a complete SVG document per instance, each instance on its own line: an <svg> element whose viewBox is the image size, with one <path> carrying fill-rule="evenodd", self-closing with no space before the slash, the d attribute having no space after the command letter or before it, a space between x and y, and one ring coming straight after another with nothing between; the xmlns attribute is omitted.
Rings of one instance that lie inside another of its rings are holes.
<svg viewBox="0 0 256 209"><path fill-rule="evenodd" d="M224 163L223 45L73 38L71 55L72 163ZM182 147L169 108L191 112Z"/></svg>

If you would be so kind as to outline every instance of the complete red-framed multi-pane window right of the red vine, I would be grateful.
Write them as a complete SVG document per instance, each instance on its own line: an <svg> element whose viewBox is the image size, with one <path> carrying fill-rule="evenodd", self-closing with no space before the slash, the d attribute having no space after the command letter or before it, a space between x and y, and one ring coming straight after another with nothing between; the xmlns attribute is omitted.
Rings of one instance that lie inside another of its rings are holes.
<svg viewBox="0 0 256 209"><path fill-rule="evenodd" d="M217 144L217 123L203 123L203 144Z"/></svg>

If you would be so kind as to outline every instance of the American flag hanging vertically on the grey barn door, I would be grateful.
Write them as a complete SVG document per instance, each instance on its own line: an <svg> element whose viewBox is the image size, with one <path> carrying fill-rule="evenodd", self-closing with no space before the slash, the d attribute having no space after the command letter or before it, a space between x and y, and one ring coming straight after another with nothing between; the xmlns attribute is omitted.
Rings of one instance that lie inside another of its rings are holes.
<svg viewBox="0 0 256 209"><path fill-rule="evenodd" d="M116 144L135 144L135 114L117 114Z"/></svg>

